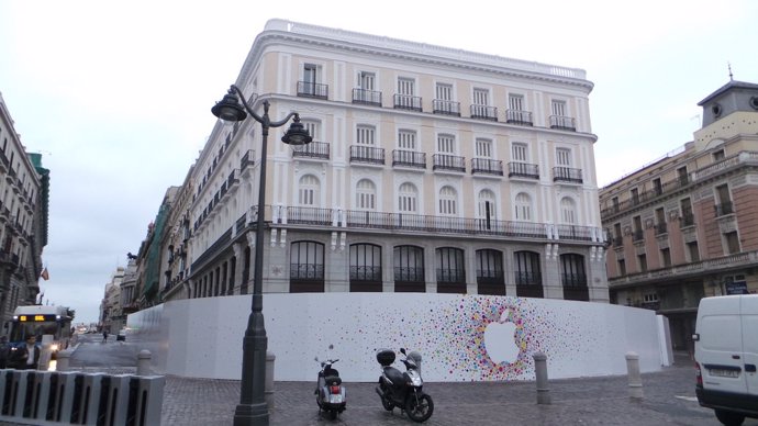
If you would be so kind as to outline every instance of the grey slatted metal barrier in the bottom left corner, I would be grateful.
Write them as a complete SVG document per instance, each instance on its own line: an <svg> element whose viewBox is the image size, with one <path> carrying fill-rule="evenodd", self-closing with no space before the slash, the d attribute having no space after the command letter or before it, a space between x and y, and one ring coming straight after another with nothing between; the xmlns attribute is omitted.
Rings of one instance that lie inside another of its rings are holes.
<svg viewBox="0 0 758 426"><path fill-rule="evenodd" d="M0 370L0 421L29 425L160 424L163 375Z"/></svg>

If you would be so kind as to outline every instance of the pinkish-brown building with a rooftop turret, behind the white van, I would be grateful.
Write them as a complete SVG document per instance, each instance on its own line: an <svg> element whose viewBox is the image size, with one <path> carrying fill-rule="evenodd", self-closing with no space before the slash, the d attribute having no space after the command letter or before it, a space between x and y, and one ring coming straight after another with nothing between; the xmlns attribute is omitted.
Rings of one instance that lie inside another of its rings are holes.
<svg viewBox="0 0 758 426"><path fill-rule="evenodd" d="M600 191L611 301L666 315L679 349L701 298L758 291L758 85L699 105L692 142Z"/></svg>

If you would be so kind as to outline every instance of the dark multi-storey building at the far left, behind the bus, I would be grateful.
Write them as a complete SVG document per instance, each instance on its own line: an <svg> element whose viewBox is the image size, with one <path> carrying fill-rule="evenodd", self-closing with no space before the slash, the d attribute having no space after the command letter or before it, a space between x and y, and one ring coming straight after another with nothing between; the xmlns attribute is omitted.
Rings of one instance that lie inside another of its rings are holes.
<svg viewBox="0 0 758 426"><path fill-rule="evenodd" d="M37 303L47 245L49 170L21 144L0 94L0 322Z"/></svg>

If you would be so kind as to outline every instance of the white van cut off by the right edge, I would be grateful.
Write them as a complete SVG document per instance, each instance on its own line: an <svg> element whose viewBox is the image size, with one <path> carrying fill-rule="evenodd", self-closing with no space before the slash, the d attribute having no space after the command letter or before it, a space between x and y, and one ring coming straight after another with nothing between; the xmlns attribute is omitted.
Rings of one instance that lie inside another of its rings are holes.
<svg viewBox="0 0 758 426"><path fill-rule="evenodd" d="M758 294L703 298L692 339L700 405L724 425L758 418Z"/></svg>

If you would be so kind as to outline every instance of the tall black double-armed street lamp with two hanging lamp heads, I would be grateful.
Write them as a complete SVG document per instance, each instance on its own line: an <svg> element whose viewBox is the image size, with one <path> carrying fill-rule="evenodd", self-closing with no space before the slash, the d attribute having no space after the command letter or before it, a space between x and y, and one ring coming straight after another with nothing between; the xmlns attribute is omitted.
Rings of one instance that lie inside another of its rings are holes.
<svg viewBox="0 0 758 426"><path fill-rule="evenodd" d="M239 98L237 98L237 94ZM239 104L242 100L242 105ZM266 208L266 148L268 145L268 130L280 127L294 117L290 128L281 142L299 146L311 143L313 138L300 123L300 115L290 112L282 120L272 122L268 116L268 100L264 101L264 114L258 115L245 101L242 90L232 85L228 92L211 109L213 115L225 122L243 121L249 114L263 126L263 143L260 146L260 178L258 181L258 212L255 229L255 273L253 276L253 305L247 320L247 329L242 344L242 383L239 404L234 412L234 425L268 425L268 405L265 399L266 386L266 349L268 338L264 326L264 209Z"/></svg>

